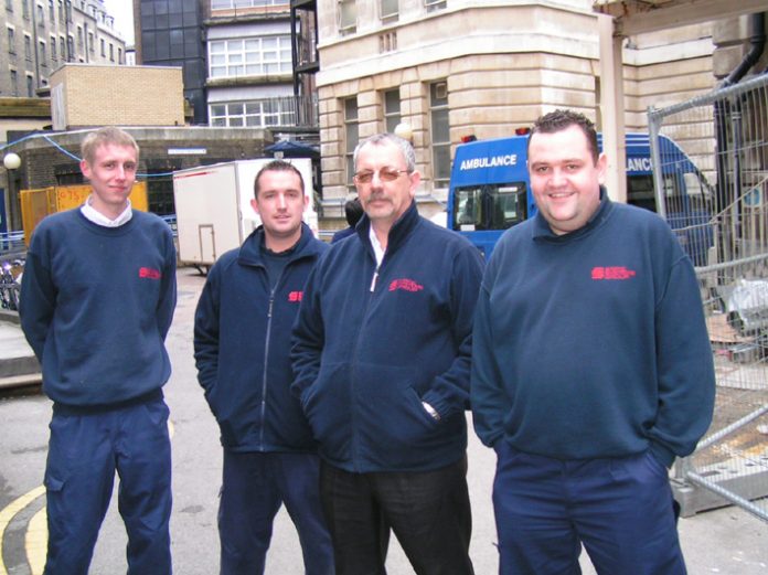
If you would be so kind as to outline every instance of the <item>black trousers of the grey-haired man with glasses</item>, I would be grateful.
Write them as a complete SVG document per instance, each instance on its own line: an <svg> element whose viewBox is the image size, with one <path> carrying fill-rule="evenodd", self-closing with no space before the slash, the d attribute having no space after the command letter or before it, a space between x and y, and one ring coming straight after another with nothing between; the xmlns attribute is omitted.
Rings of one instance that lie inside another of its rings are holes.
<svg viewBox="0 0 768 575"><path fill-rule="evenodd" d="M337 575L384 575L390 528L417 575L471 575L467 458L424 472L320 468Z"/></svg>

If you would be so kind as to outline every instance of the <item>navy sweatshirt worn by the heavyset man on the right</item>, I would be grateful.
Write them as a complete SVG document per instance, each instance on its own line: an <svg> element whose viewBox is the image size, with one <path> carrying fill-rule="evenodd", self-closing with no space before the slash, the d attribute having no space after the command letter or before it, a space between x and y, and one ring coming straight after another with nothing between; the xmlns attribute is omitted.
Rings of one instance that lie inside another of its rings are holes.
<svg viewBox="0 0 768 575"><path fill-rule="evenodd" d="M557 459L648 449L669 466L706 432L715 376L693 266L655 214L605 196L556 236L505 232L483 277L471 401L486 445Z"/></svg>

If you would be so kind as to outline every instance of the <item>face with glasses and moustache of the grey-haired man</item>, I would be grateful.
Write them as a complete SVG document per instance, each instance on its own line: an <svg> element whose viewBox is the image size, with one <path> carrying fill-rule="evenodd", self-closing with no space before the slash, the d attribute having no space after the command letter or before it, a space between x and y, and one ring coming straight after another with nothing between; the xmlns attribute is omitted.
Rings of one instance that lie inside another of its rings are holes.
<svg viewBox="0 0 768 575"><path fill-rule="evenodd" d="M388 230L413 202L419 173L409 173L401 148L386 140L360 148L355 169L358 174L371 178L356 179L363 210L374 226ZM391 175L382 178L383 172Z"/></svg>

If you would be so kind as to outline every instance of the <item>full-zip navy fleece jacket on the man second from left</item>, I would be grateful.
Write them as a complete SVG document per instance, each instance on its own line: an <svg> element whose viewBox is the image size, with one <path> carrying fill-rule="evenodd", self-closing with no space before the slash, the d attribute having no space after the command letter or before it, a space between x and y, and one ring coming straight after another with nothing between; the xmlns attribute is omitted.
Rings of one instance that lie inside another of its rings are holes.
<svg viewBox="0 0 768 575"><path fill-rule="evenodd" d="M290 330L307 277L328 246L302 224L274 288L263 246L258 227L209 273L194 319L198 380L226 449L316 452L290 394Z"/></svg>

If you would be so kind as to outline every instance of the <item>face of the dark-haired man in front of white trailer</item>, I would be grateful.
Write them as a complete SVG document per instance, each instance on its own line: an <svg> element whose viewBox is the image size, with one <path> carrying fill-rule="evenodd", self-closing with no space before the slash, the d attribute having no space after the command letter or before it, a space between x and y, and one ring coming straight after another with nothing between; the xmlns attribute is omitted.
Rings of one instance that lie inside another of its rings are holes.
<svg viewBox="0 0 768 575"><path fill-rule="evenodd" d="M282 252L299 241L308 202L296 171L265 170L259 174L257 195L250 205L262 217L269 249Z"/></svg>

